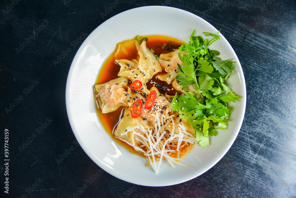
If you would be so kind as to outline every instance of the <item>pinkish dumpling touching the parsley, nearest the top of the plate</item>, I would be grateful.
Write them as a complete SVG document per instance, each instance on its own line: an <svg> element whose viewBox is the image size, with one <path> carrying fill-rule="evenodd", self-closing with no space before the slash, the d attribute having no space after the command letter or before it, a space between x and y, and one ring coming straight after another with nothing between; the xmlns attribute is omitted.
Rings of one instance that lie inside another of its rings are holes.
<svg viewBox="0 0 296 198"><path fill-rule="evenodd" d="M166 72L177 69L178 68L177 63L179 63L180 65L183 65L183 62L178 57L179 52L180 52L180 50L176 50L176 51L169 52L169 53L166 53L166 54L161 54L159 56L160 59L158 60L158 62L165 69ZM181 55L183 57L186 54L188 54L188 53L187 52L181 52Z"/></svg>

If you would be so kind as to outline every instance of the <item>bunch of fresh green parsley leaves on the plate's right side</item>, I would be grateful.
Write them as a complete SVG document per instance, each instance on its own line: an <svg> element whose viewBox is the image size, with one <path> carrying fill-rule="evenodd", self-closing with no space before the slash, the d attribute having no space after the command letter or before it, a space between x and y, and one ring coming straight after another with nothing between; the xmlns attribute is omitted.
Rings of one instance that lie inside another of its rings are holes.
<svg viewBox="0 0 296 198"><path fill-rule="evenodd" d="M219 32L217 34L204 32L205 36L213 37L208 40L202 36L194 36L194 30L189 43L179 47L181 52L188 54L183 57L181 52L179 53L183 65L178 64L176 79L184 90L189 90L186 85L192 84L202 98L194 92L188 92L186 95L176 93L171 106L174 111L179 111L182 120L190 122L195 130L197 144L202 147L210 145L209 136L216 136L217 129L226 130L225 120L229 118L226 102L236 102L242 98L231 92L231 89L224 84L230 73L235 70L235 62L230 59L221 60L218 57L220 52L208 48L214 41L220 39Z"/></svg>

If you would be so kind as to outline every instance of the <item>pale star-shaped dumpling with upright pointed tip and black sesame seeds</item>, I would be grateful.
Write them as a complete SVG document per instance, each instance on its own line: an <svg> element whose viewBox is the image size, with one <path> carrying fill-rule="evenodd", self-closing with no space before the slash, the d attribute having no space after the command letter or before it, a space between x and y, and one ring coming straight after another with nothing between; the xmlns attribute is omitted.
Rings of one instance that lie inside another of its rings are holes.
<svg viewBox="0 0 296 198"><path fill-rule="evenodd" d="M146 47L146 41L141 43L138 54L140 56L138 64L129 64L126 59L115 60L121 66L118 76L124 76L132 82L139 80L145 84L154 74L160 72L162 68L158 61L155 60L155 56Z"/></svg>

